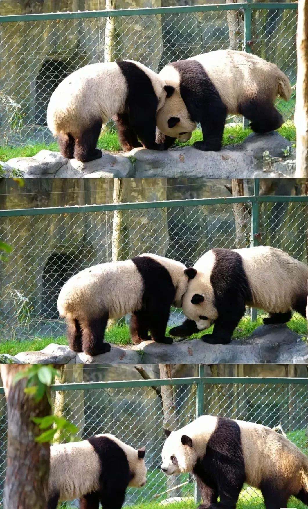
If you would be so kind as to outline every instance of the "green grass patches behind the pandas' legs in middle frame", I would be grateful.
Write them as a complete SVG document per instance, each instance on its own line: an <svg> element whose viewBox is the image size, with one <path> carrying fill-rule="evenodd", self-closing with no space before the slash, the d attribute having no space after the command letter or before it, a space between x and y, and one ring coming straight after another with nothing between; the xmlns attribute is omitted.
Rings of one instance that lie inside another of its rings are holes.
<svg viewBox="0 0 308 509"><path fill-rule="evenodd" d="M266 316L266 315L264 315ZM262 317L258 317L255 322L251 322L247 318L243 318L236 329L233 332L234 338L242 338L249 336L253 330L262 325ZM298 334L307 335L307 322L300 315L294 313L292 320L288 322L288 327L297 332ZM167 331L170 327L167 329ZM210 327L207 330L200 331L198 334L194 334L191 339L201 337L203 334L210 334L213 330L213 327ZM110 327L109 330L105 333L105 340L109 343L113 343L115 345L131 345L130 340L130 332L129 326L124 325L115 325ZM34 337L33 340L10 340L6 342L0 342L0 354L8 353L10 355L16 355L19 352L26 351L37 351L42 350L50 343L56 343L57 345L67 345L67 339L65 336L61 336L58 338L54 337Z"/></svg>

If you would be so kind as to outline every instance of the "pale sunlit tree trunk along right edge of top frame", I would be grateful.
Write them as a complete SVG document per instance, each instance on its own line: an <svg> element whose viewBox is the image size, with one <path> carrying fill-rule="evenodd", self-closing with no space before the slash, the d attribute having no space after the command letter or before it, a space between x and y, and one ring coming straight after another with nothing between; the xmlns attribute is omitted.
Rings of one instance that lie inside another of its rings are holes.
<svg viewBox="0 0 308 509"><path fill-rule="evenodd" d="M295 177L308 177L308 0L298 2Z"/></svg>

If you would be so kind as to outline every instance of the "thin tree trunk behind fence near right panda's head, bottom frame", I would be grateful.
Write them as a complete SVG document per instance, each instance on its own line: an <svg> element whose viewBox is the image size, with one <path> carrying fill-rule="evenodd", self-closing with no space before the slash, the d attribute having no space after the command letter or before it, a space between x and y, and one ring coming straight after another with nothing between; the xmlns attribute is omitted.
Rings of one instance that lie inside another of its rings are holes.
<svg viewBox="0 0 308 509"><path fill-rule="evenodd" d="M160 378L171 378L171 365L160 364ZM173 386L162 385L162 406L163 406L163 428L174 431L177 428L176 408L174 402ZM172 491L168 492L170 498L179 497L181 494L180 488L177 487L179 480L176 475L168 475L167 489Z"/></svg>

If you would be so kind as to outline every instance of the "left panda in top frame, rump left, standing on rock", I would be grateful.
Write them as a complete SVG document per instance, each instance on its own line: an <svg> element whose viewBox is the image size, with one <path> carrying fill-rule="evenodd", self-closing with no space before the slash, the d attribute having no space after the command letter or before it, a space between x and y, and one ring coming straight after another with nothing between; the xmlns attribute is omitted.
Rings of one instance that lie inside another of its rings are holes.
<svg viewBox="0 0 308 509"><path fill-rule="evenodd" d="M86 162L102 157L96 144L102 125L114 117L125 151L155 141L156 114L171 86L139 62L124 60L81 67L59 83L47 108L47 125L58 137L61 155Z"/></svg>

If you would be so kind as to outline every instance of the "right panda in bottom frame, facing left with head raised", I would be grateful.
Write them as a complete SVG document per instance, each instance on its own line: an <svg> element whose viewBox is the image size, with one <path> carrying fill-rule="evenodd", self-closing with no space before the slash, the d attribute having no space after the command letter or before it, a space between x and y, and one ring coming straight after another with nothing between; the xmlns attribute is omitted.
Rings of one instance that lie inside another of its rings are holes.
<svg viewBox="0 0 308 509"><path fill-rule="evenodd" d="M244 483L261 490L266 509L287 507L291 495L308 505L308 458L265 426L203 415L165 434L161 469L195 475L199 509L235 509Z"/></svg>

